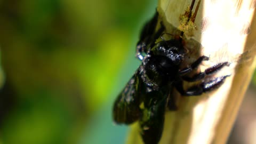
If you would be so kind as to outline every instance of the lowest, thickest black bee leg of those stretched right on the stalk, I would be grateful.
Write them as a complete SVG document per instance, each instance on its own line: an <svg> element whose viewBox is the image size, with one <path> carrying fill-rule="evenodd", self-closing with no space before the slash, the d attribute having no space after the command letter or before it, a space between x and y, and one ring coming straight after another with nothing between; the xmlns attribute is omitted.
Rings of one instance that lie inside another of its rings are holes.
<svg viewBox="0 0 256 144"><path fill-rule="evenodd" d="M187 91L183 89L182 82L175 84L175 87L183 96L201 95L204 92L209 92L220 87L228 76L230 75L215 77L210 81L192 86Z"/></svg>

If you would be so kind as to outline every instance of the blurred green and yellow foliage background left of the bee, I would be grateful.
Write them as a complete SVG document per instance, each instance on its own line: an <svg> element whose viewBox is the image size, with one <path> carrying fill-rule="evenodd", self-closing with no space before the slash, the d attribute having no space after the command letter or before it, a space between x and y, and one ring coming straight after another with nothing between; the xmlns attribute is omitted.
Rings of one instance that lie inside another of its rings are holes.
<svg viewBox="0 0 256 144"><path fill-rule="evenodd" d="M0 0L0 144L124 143L111 108L156 5Z"/></svg>

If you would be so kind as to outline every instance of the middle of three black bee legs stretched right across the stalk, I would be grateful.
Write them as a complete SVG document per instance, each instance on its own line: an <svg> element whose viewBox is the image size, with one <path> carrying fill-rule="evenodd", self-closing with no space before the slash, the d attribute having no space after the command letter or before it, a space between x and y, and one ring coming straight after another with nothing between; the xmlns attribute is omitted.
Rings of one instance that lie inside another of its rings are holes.
<svg viewBox="0 0 256 144"><path fill-rule="evenodd" d="M210 68L205 69L204 72L196 74L193 77L182 76L182 79L185 81L188 81L188 82L195 82L195 81L203 79L207 75L212 75L212 74L216 73L217 71L222 69L224 66L229 66L229 64L230 64L229 62L220 62L217 65L214 65Z"/></svg>

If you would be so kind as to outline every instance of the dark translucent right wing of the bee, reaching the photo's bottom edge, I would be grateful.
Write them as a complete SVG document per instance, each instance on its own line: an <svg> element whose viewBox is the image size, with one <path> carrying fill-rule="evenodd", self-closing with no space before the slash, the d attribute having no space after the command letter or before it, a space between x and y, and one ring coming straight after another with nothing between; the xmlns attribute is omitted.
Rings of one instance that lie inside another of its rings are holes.
<svg viewBox="0 0 256 144"><path fill-rule="evenodd" d="M140 119L141 137L146 144L157 144L162 137L166 98L161 91L150 92Z"/></svg>

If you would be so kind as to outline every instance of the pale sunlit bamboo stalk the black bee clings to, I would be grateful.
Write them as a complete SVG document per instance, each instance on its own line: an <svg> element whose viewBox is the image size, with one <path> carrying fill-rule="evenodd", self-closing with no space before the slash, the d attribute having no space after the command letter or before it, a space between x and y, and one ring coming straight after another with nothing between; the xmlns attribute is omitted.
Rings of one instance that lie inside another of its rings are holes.
<svg viewBox="0 0 256 144"><path fill-rule="evenodd" d="M227 141L256 66L255 5L255 0L159 0L157 10L166 32L184 31L190 52L210 56L200 67L201 71L218 62L231 62L229 67L214 75L230 74L218 90L200 97L179 97L179 109L166 112L160 143L219 144ZM189 43L191 39L199 46ZM197 56L191 54L185 65ZM138 135L138 125L134 124L127 143L142 143Z"/></svg>

